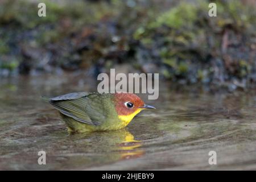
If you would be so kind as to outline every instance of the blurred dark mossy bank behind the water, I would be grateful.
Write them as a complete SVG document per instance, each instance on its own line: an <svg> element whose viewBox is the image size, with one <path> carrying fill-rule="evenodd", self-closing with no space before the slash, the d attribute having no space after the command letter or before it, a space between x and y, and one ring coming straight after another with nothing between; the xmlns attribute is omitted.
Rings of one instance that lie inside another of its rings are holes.
<svg viewBox="0 0 256 182"><path fill-rule="evenodd" d="M208 15L210 2L217 17ZM254 0L2 0L0 77L97 77L121 67L179 85L254 88L255 7Z"/></svg>

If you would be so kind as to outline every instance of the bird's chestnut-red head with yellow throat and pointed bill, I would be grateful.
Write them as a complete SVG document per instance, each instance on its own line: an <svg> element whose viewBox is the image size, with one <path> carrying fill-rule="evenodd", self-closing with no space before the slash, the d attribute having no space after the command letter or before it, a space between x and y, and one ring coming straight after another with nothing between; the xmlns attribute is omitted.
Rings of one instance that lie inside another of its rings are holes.
<svg viewBox="0 0 256 182"><path fill-rule="evenodd" d="M133 93L115 93L115 110L119 119L128 125L128 123L143 109L155 109L155 107L146 105L136 94Z"/></svg>

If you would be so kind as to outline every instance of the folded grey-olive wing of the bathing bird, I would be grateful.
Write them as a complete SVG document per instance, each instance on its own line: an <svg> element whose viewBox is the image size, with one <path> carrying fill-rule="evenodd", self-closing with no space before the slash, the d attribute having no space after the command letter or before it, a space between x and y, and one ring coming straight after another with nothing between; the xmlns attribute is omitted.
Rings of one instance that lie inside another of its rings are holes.
<svg viewBox="0 0 256 182"><path fill-rule="evenodd" d="M97 121L93 121L94 119L86 113L86 105L90 104L86 97L89 95L90 93L86 92L69 93L63 96L53 97L49 100L49 103L55 106L62 114L76 121L89 125L99 125Z"/></svg>

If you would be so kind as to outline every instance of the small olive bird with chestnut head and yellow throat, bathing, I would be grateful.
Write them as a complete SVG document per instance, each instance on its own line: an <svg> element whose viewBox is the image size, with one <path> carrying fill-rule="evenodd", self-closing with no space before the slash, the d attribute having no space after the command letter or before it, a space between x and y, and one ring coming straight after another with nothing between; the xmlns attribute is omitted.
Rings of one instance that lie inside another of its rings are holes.
<svg viewBox="0 0 256 182"><path fill-rule="evenodd" d="M43 99L59 110L69 131L122 129L143 109L155 109L132 93L74 92Z"/></svg>

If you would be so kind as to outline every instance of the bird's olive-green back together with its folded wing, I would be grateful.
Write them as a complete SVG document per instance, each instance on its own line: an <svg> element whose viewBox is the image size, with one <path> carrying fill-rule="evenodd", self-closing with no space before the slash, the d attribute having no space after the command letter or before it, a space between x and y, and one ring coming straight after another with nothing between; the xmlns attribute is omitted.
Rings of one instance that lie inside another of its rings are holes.
<svg viewBox="0 0 256 182"><path fill-rule="evenodd" d="M53 97L49 101L60 113L89 125L117 122L113 94L70 93Z"/></svg>

